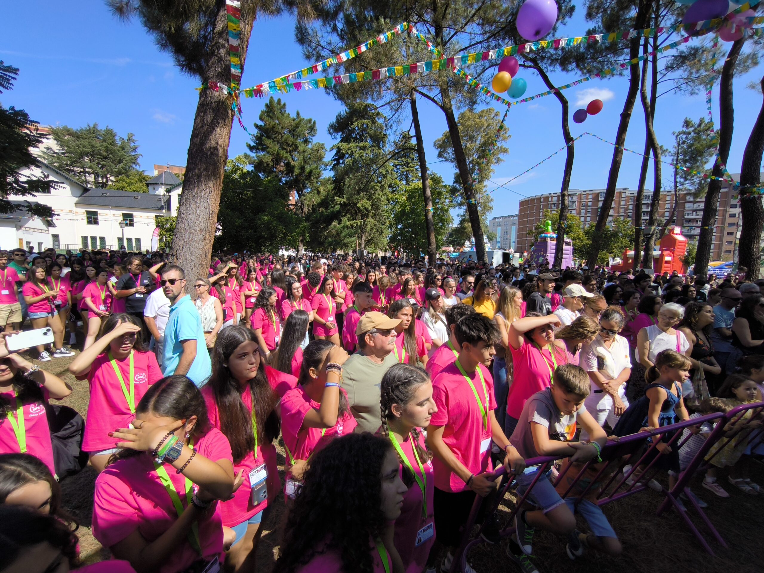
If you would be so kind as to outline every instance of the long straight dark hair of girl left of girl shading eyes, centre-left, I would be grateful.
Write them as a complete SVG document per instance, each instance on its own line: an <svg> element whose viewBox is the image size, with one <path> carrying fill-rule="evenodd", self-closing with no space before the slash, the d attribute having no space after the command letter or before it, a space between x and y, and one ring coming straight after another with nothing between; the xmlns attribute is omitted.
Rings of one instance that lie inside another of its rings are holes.
<svg viewBox="0 0 764 573"><path fill-rule="evenodd" d="M254 331L245 326L231 325L218 335L215 348L212 349L212 376L208 382L218 406L220 431L231 444L235 464L249 452L254 452L252 413L241 400L241 384L231 377L231 371L226 365L231 354L244 342L254 342L257 345ZM259 358L260 354L257 356ZM265 361L262 359L257 374L248 380L247 386L252 397L258 442L260 445L270 444L279 435L281 425L275 410L277 396L268 383Z"/></svg>

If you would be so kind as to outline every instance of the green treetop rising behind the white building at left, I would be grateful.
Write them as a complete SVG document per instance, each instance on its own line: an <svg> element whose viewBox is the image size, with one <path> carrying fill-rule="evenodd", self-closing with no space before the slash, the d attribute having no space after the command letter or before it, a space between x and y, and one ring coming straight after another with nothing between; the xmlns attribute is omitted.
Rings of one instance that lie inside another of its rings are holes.
<svg viewBox="0 0 764 573"><path fill-rule="evenodd" d="M133 134L122 138L97 123L79 129L63 125L51 128L50 134L58 150L44 148L44 160L86 186L108 186L134 171L141 157Z"/></svg>

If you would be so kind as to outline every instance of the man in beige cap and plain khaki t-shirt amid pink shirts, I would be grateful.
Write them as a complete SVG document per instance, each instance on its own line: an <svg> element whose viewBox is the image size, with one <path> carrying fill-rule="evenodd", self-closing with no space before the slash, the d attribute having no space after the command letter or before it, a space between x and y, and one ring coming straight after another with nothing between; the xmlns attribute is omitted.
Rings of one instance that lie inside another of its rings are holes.
<svg viewBox="0 0 764 573"><path fill-rule="evenodd" d="M392 352L399 324L382 312L367 312L355 327L358 351L342 364L342 387L358 422L356 432L376 432L380 427L380 384L387 369L398 362Z"/></svg>

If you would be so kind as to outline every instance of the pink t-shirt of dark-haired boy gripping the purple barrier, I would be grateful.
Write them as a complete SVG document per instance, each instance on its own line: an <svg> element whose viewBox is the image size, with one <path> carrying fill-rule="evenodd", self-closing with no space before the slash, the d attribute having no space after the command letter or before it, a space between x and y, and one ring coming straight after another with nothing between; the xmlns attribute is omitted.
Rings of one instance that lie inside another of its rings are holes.
<svg viewBox="0 0 764 573"><path fill-rule="evenodd" d="M496 409L494 400L494 378L491 377L487 367L478 364L485 380L485 391L481 377L477 369L469 376L475 390L478 392L483 406L488 405L489 410ZM486 396L487 394L487 396ZM448 364L432 380L432 399L438 411L432 414L430 424L432 426L444 426L443 442L456 456L458 461L467 468L471 474L482 474L490 471L490 438L493 435L490 429L490 421L487 429L483 422L481 408L470 385L461 374L456 364ZM490 418L490 416L489 416ZM435 467L435 487L444 491L464 491L468 487L457 474L452 471L438 458L432 459Z"/></svg>

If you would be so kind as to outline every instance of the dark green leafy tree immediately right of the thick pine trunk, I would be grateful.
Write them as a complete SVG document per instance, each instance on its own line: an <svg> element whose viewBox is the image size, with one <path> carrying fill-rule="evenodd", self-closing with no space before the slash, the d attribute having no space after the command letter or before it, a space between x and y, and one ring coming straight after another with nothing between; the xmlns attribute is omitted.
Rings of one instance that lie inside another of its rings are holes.
<svg viewBox="0 0 764 573"><path fill-rule="evenodd" d="M288 206L289 190L276 176L264 178L249 169L250 161L238 155L226 164L214 249L275 253L296 247L306 229Z"/></svg>

